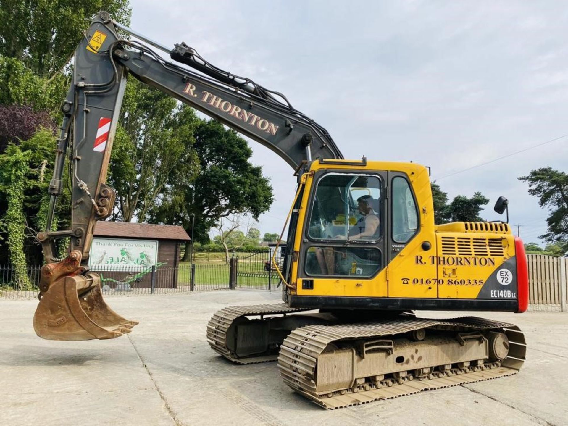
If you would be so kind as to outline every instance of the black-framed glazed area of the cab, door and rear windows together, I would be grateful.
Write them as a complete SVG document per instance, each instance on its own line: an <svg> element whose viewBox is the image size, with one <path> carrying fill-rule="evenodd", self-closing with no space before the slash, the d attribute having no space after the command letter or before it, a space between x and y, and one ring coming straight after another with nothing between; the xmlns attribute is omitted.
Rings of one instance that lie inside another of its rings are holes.
<svg viewBox="0 0 568 426"><path fill-rule="evenodd" d="M394 176L391 197L386 197L387 174L315 173L300 275L371 278L389 262L386 241L406 244L412 239L418 228L414 195L405 177Z"/></svg>

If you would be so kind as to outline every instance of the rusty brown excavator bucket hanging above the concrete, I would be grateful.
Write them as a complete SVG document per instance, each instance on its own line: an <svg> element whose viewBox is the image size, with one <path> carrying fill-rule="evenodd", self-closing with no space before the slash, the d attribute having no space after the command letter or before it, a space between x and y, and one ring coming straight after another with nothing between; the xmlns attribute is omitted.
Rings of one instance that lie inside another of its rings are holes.
<svg viewBox="0 0 568 426"><path fill-rule="evenodd" d="M34 329L43 339L114 339L130 333L138 324L107 306L101 293L101 278L94 273L62 277L40 297Z"/></svg>

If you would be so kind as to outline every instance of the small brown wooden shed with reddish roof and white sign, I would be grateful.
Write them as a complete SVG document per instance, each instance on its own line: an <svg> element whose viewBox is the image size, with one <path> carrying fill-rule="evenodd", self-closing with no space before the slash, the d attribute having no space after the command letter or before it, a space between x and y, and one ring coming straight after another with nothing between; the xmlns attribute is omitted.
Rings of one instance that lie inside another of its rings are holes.
<svg viewBox="0 0 568 426"><path fill-rule="evenodd" d="M89 266L110 287L150 287L152 266L156 287L177 287L181 245L190 240L181 226L97 222L93 235Z"/></svg>

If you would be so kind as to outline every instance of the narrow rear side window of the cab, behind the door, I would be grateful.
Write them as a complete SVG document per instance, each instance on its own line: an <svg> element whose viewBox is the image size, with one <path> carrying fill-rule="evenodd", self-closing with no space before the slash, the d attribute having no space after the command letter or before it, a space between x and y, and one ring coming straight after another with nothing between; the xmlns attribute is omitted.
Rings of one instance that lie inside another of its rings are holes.
<svg viewBox="0 0 568 426"><path fill-rule="evenodd" d="M418 229L418 210L408 181L392 178L392 241L406 244Z"/></svg>

